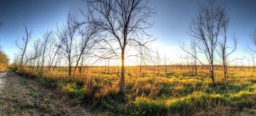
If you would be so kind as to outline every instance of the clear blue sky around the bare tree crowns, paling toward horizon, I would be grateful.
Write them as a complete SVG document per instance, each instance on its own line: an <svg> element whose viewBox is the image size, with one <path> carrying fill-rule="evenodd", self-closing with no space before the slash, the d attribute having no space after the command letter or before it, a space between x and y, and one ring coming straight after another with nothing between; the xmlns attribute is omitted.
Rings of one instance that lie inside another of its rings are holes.
<svg viewBox="0 0 256 116"><path fill-rule="evenodd" d="M198 0L204 2L204 0ZM237 50L231 57L241 57L246 43L250 42L249 33L256 28L256 0L222 0L230 8L229 34L235 31L239 36ZM186 33L192 14L198 12L196 0L149 0L150 7L156 7L158 16L152 18L154 27L147 29L158 39L152 47L157 47L160 55L168 55L172 61L178 62L178 51L182 53L179 40L188 41ZM86 2L82 0L0 0L0 20L4 25L0 28L0 44L9 56L10 62L17 51L15 40L25 34L22 23L32 28L32 39L41 37L40 32L47 28L56 28L66 19L65 13L78 12L79 19L84 17L79 8L87 12ZM31 40L32 43L32 40ZM245 60L247 61L247 60Z"/></svg>

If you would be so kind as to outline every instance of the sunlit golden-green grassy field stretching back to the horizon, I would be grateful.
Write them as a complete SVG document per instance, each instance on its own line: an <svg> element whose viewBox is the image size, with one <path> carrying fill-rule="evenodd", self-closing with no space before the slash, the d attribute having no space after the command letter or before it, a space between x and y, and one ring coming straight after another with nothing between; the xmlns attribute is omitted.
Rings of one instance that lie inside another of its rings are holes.
<svg viewBox="0 0 256 116"><path fill-rule="evenodd" d="M119 67L120 68L120 67ZM155 69L156 68L156 69ZM90 67L68 76L67 68L42 75L27 67L12 69L38 80L40 85L59 88L94 112L123 115L255 115L256 73L252 69L229 68L226 81L221 68L214 70L216 83L205 73L188 73L186 67L126 67L125 97L119 96L117 67ZM120 69L119 69L120 71ZM207 72L205 69L199 71ZM216 86L217 85L217 86Z"/></svg>

